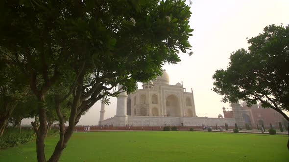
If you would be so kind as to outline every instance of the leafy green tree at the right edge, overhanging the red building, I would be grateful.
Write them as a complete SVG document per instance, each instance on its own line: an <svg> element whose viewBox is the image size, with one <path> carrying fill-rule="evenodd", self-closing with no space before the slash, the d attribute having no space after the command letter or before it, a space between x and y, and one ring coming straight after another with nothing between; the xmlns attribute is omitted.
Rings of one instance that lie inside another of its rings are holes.
<svg viewBox="0 0 289 162"><path fill-rule="evenodd" d="M289 121L283 112L289 111L289 27L266 26L248 43L248 50L233 52L228 68L213 75L213 90L224 102L243 100L251 106L260 101Z"/></svg>

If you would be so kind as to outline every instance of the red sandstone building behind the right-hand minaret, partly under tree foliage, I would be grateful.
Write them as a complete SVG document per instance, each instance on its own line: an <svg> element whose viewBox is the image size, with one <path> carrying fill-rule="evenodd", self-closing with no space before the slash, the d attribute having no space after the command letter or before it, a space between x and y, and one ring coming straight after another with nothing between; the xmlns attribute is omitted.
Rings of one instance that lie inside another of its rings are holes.
<svg viewBox="0 0 289 162"><path fill-rule="evenodd" d="M224 118L234 118L234 114L232 110L227 110L223 107ZM251 124L252 126L258 125L270 125L278 126L279 122L284 124L283 116L277 111L271 108L263 108L261 103L259 105L255 104L251 107L247 107L247 103L244 101L241 107L241 114L243 120L247 124Z"/></svg>

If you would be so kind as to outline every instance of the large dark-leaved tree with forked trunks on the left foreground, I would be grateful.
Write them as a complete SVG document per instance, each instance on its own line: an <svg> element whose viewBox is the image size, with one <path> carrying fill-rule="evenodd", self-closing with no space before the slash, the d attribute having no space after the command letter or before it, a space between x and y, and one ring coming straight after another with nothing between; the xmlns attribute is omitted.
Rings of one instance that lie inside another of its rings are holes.
<svg viewBox="0 0 289 162"><path fill-rule="evenodd" d="M26 74L37 98L40 125L32 125L38 162L46 162L48 94L54 95L60 124L48 161L57 162L80 117L96 101L135 91L138 81L161 75L165 62L177 63L178 50L191 47L191 12L184 0L13 0L3 6L0 15L8 19L0 19L5 20L0 22L2 54ZM122 88L115 90L118 84ZM62 105L70 109L69 117Z"/></svg>

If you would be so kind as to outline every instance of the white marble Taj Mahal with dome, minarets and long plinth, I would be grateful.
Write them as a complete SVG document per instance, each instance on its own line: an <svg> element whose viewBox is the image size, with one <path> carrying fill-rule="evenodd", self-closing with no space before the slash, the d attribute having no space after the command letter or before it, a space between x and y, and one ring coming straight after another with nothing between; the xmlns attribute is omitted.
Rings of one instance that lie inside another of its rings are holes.
<svg viewBox="0 0 289 162"><path fill-rule="evenodd" d="M113 126L202 126L225 125L234 126L240 119L240 107L233 108L232 118L197 117L195 112L193 89L186 92L182 83L169 84L169 75L164 70L163 75L154 81L143 83L143 89L128 94L121 92L117 98L117 112L113 118L104 119L105 107L101 103L99 125ZM121 85L119 85L119 89Z"/></svg>

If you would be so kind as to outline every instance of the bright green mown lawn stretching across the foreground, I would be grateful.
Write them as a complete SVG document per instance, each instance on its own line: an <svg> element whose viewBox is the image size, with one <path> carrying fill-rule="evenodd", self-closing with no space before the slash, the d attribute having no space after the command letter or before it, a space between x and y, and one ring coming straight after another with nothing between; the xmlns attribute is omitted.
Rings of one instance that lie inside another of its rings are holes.
<svg viewBox="0 0 289 162"><path fill-rule="evenodd" d="M47 159L57 137L46 141ZM61 162L289 162L287 135L195 131L73 133ZM0 151L0 162L35 162L35 142Z"/></svg>

